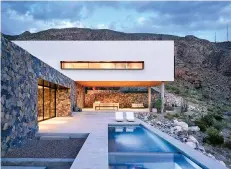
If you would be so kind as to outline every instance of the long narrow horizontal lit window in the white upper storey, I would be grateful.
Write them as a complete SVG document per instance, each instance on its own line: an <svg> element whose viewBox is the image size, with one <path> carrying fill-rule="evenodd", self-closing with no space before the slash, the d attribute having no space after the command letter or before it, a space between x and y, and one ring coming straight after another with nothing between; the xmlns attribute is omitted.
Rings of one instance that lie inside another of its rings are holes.
<svg viewBox="0 0 231 169"><path fill-rule="evenodd" d="M61 61L61 69L141 70L144 61Z"/></svg>

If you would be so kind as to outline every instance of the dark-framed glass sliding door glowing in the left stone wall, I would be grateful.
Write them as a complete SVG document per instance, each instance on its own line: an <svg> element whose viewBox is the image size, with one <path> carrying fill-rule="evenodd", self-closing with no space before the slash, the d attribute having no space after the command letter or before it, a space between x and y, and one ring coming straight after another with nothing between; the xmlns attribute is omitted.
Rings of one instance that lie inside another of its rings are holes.
<svg viewBox="0 0 231 169"><path fill-rule="evenodd" d="M38 82L38 121L56 116L56 85L45 80Z"/></svg>

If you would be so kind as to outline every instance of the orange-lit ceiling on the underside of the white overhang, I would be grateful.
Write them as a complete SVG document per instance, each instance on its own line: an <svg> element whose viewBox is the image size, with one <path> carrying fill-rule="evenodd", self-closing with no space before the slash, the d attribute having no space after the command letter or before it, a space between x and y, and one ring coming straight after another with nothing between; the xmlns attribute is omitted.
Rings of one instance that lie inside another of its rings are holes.
<svg viewBox="0 0 231 169"><path fill-rule="evenodd" d="M161 85L161 81L77 81L86 87L153 87Z"/></svg>

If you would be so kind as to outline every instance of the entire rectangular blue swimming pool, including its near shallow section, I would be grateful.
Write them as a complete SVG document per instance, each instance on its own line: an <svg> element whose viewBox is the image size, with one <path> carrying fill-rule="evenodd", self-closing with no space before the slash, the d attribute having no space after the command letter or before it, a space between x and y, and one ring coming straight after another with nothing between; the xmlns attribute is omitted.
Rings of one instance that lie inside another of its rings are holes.
<svg viewBox="0 0 231 169"><path fill-rule="evenodd" d="M202 169L141 125L109 126L110 169Z"/></svg>

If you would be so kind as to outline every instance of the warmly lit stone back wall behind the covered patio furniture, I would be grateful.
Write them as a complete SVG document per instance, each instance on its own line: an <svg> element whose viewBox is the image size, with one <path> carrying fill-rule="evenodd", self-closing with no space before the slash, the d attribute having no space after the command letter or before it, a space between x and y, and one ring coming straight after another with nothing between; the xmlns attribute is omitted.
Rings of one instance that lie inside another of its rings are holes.
<svg viewBox="0 0 231 169"><path fill-rule="evenodd" d="M152 102L155 94L152 94ZM102 103L119 103L120 108L131 108L132 103L144 103L148 107L147 93L121 93L113 90L89 90L85 95L85 107L92 108L95 101Z"/></svg>

